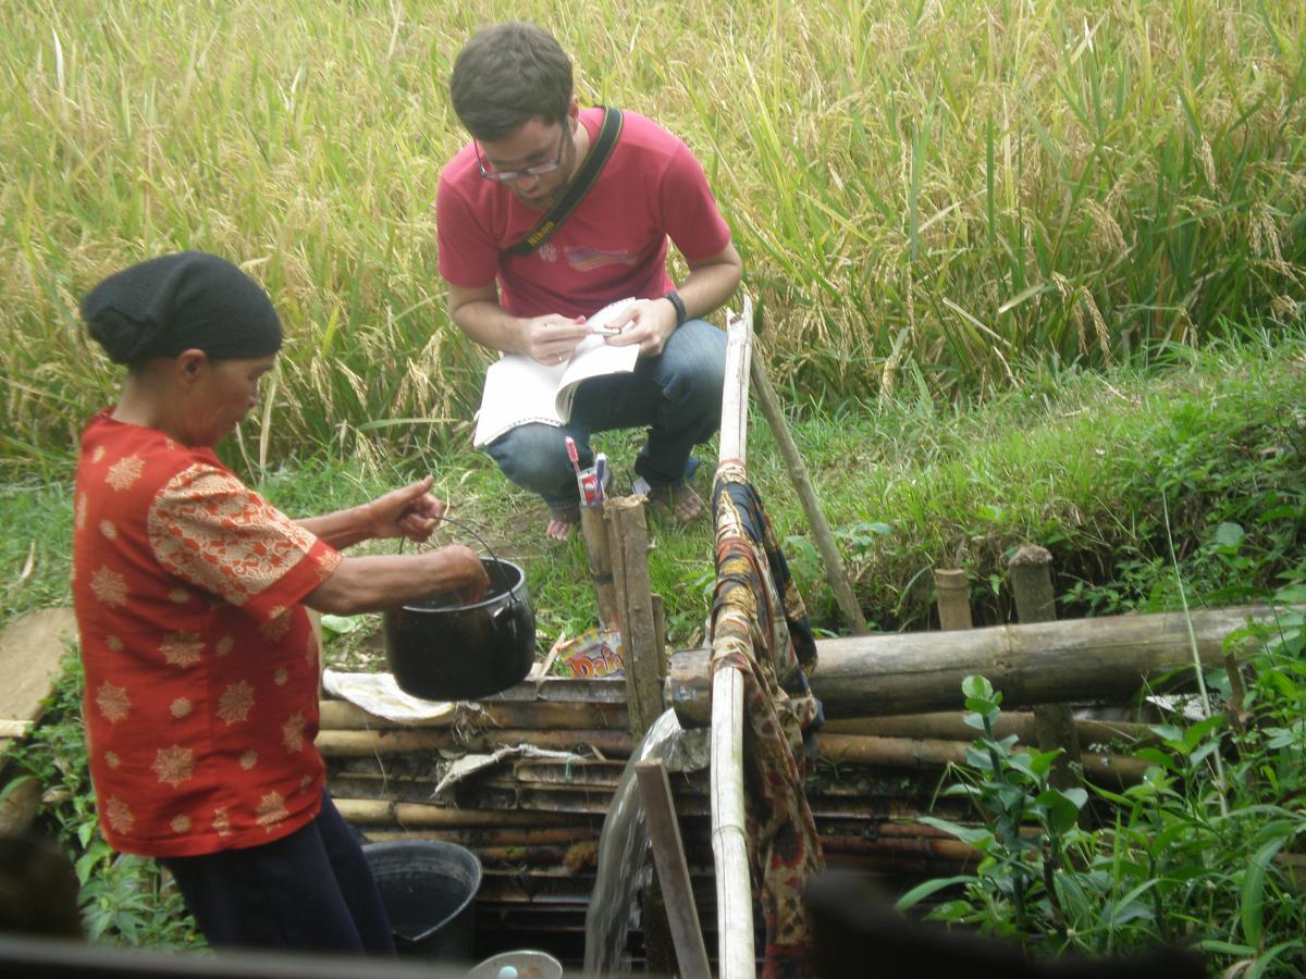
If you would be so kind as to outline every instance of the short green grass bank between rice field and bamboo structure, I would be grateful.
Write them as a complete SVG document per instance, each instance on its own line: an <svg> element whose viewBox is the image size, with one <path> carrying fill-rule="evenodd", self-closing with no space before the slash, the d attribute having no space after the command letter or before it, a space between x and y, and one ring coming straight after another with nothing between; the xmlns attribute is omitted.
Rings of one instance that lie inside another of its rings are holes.
<svg viewBox="0 0 1306 979"><path fill-rule="evenodd" d="M1106 375L1021 368L1017 386L972 407L904 390L874 406L849 401L793 411L791 432L867 617L882 629L926 628L930 572L956 567L972 581L977 621L1006 621L1006 559L1023 543L1053 552L1064 616L1175 608L1166 510L1196 600L1229 603L1272 589L1306 546L1306 338L1182 351L1175 359L1168 369ZM636 433L599 436L599 445L614 463L614 492L629 492ZM705 446L705 473L714 454ZM837 633L837 606L760 412L751 420L748 469L814 623ZM546 544L543 505L479 453L290 461L256 482L287 513L307 516L362 503L426 471L453 517L525 567L542 649L594 623L579 535ZM708 478L700 475L704 493ZM46 484L0 491L5 617L67 600L69 480L65 470ZM710 600L709 526L650 521L652 585L666 602L670 642L697 645ZM1242 529L1232 552L1224 525ZM482 550L452 526L432 546L453 540ZM371 623L364 633L375 633L375 616ZM342 647L364 638L351 636Z"/></svg>

